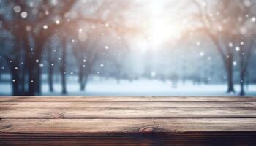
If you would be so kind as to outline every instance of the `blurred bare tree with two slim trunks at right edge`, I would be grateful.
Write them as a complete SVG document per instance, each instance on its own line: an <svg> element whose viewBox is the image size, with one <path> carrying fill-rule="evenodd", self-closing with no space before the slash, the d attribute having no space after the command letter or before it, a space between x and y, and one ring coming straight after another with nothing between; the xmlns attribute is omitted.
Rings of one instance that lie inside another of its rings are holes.
<svg viewBox="0 0 256 146"><path fill-rule="evenodd" d="M227 70L227 92L233 92L233 63L235 51L240 58L240 94L244 95L244 78L249 64L255 37L252 32L252 6L255 1L223 0L207 1L193 0L197 6L197 17L201 30L210 37L216 45ZM211 7L214 5L215 7ZM214 11L211 11L214 9ZM215 12L215 13L214 13Z"/></svg>

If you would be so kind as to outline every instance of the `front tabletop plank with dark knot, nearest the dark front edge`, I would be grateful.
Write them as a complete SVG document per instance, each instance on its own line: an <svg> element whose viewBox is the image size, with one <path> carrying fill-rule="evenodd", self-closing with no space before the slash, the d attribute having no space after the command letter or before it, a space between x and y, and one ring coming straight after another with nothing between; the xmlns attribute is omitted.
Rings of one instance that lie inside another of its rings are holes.
<svg viewBox="0 0 256 146"><path fill-rule="evenodd" d="M256 131L255 118L2 119L1 133L113 134Z"/></svg>

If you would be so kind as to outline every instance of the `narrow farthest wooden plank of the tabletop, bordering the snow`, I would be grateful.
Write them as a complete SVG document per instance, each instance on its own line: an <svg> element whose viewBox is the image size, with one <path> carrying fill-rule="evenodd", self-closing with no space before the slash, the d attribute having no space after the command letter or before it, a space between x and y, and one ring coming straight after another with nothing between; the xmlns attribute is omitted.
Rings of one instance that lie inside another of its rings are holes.
<svg viewBox="0 0 256 146"><path fill-rule="evenodd" d="M196 101L219 101L219 102L256 102L256 97L214 97L214 96L201 96L201 97L125 97L125 96L112 96L112 97L104 97L104 96L0 96L0 102L102 102L102 101L144 101L144 102L172 102L172 101L181 101L181 102L196 102Z"/></svg>

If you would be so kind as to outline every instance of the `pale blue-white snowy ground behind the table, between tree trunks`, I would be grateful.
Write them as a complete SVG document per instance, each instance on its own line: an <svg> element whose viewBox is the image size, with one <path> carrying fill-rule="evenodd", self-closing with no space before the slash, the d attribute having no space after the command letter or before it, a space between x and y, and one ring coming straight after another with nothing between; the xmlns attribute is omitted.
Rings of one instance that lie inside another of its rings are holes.
<svg viewBox="0 0 256 146"><path fill-rule="evenodd" d="M67 82L67 95L77 96L237 96L239 86L236 85L236 93L227 94L226 85L192 85L191 82L178 83L175 87L171 82L158 80L97 80L90 81L86 91L80 91L78 82ZM11 85L0 84L0 95L10 95ZM54 92L49 92L48 84L42 85L42 95L61 95L61 84L54 84ZM246 96L256 96L256 85L246 88Z"/></svg>

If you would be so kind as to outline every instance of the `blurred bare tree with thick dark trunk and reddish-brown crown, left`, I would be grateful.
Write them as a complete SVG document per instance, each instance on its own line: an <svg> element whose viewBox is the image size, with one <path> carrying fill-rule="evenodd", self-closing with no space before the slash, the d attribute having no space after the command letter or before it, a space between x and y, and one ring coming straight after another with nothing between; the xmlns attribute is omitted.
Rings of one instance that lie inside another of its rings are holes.
<svg viewBox="0 0 256 146"><path fill-rule="evenodd" d="M24 64L29 66L27 69L27 74L29 75L27 93L29 95L40 93L39 62L45 42L54 33L54 30L59 27L54 18L58 16L59 20L66 21L64 15L72 9L75 0L59 1L59 3L57 5L52 4L50 0L37 1L31 7L29 1L7 1L6 5L10 7L12 20L7 19L8 16L3 14L0 17L2 26L10 31L12 36L17 37L17 42L23 42L26 52ZM31 41L33 41L33 45L31 45Z"/></svg>

